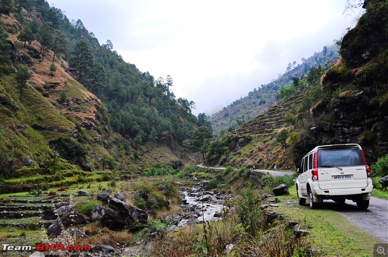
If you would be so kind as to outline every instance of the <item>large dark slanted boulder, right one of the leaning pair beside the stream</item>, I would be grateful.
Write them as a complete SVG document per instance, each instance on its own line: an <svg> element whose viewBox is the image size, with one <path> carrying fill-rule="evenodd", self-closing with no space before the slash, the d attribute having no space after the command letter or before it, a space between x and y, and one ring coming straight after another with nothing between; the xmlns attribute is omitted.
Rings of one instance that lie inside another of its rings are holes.
<svg viewBox="0 0 388 257"><path fill-rule="evenodd" d="M108 206L123 217L132 228L138 227L140 224L145 225L147 222L148 215L144 210L138 209L117 198L110 196Z"/></svg>

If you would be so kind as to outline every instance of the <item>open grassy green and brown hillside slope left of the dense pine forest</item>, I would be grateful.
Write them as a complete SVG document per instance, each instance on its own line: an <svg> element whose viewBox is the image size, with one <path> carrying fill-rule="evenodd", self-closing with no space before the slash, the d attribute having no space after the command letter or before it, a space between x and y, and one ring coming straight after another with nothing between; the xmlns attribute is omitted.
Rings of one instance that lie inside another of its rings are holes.
<svg viewBox="0 0 388 257"><path fill-rule="evenodd" d="M54 58L52 47L41 51L41 42L31 40L31 43L24 44L18 39L22 29L31 20L39 17L38 20L43 23L41 12L52 11L58 14L58 10L49 9L46 5L29 8L29 11L22 9L23 19L20 16L16 19L16 13L12 9L0 14L0 43L7 49L1 53L5 59L0 60L2 178L32 176L35 173L56 174L57 171L64 170L74 171L76 174L81 169L126 170L133 174L152 167L157 162L194 163L194 156L188 149L184 149L185 154L182 156L180 145L171 147L164 142L160 144L156 138L152 143L140 142L134 147L130 137L125 138L115 132L105 104L76 80L78 74L69 68L65 54L56 54ZM56 71L51 74L52 64ZM6 65L9 71L3 73ZM32 77L25 84L20 98L15 72L25 65ZM142 75L133 64L131 67L134 67L135 72L131 75L132 78L137 79L136 76ZM89 88L92 89L90 84ZM133 88L137 90L136 87ZM156 101L175 108L170 103L170 98L167 98L167 103L160 98L156 98ZM195 116L193 119L195 120ZM191 123L190 126L194 127ZM59 178L64 177L56 179Z"/></svg>

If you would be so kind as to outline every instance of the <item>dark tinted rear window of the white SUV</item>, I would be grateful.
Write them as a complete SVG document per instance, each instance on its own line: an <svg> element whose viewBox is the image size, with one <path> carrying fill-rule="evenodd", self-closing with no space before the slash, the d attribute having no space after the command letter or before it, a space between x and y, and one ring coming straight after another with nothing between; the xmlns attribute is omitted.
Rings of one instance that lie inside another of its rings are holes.
<svg viewBox="0 0 388 257"><path fill-rule="evenodd" d="M358 147L319 149L318 168L365 165Z"/></svg>

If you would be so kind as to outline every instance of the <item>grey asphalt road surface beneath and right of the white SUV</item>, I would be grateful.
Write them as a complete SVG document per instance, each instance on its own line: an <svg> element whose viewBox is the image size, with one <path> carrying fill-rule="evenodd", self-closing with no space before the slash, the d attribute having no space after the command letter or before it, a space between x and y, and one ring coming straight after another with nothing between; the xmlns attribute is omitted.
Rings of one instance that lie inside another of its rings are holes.
<svg viewBox="0 0 388 257"><path fill-rule="evenodd" d="M355 202L346 200L338 204L324 200L320 209L331 209L348 218L368 233L388 243L388 200L372 196L367 210L357 209Z"/></svg>

